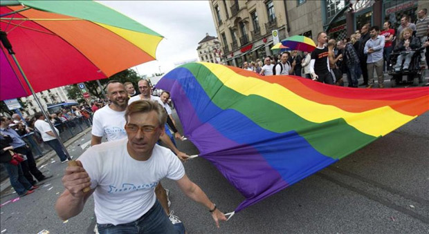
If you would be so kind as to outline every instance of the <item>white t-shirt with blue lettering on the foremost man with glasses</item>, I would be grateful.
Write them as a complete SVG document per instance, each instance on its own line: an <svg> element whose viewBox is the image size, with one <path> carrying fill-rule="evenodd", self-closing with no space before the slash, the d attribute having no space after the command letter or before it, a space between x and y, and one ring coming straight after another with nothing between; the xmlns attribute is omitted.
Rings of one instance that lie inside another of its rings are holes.
<svg viewBox="0 0 429 234"><path fill-rule="evenodd" d="M171 150L155 144L147 161L133 159L128 139L92 146L78 160L91 178L98 224L125 224L137 220L155 204L161 179L179 180L185 169Z"/></svg>

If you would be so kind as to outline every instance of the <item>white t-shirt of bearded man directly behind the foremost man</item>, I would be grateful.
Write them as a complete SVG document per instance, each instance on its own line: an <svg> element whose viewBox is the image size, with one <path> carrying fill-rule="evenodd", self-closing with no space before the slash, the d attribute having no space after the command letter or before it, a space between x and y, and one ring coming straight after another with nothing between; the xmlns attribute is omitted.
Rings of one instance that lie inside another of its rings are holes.
<svg viewBox="0 0 429 234"><path fill-rule="evenodd" d="M107 141L127 137L125 132L125 110L112 110L109 105L95 111L91 134L97 137L106 135Z"/></svg>

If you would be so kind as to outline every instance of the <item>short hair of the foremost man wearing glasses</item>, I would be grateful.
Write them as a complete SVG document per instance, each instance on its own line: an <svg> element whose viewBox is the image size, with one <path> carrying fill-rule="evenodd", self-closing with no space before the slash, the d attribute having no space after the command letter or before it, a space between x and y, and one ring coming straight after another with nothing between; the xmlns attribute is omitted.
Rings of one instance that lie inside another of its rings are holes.
<svg viewBox="0 0 429 234"><path fill-rule="evenodd" d="M128 117L130 115L135 113L149 113L152 110L158 114L159 126L163 127L167 121L167 112L158 101L138 100L132 102L128 105L127 110L125 110L125 120L128 123Z"/></svg>

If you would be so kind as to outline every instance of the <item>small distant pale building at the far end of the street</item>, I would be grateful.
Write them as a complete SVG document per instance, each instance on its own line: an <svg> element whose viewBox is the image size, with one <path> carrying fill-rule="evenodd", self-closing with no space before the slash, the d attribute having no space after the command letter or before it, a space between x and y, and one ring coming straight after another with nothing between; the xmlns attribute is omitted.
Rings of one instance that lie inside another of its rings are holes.
<svg viewBox="0 0 429 234"><path fill-rule="evenodd" d="M212 37L206 33L197 48L199 61L219 64L221 61L221 45L217 37Z"/></svg>

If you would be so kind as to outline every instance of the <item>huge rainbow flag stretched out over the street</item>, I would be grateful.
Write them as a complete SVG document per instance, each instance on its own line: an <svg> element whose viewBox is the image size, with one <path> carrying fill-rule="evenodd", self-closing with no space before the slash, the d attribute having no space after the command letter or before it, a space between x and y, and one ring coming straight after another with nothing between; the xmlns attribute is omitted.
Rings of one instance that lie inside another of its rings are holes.
<svg viewBox="0 0 429 234"><path fill-rule="evenodd" d="M357 89L240 68L165 75L185 136L246 197L235 213L429 110L429 88Z"/></svg>

